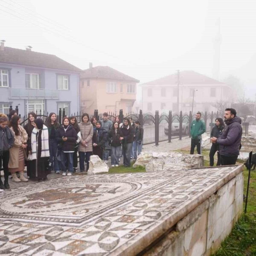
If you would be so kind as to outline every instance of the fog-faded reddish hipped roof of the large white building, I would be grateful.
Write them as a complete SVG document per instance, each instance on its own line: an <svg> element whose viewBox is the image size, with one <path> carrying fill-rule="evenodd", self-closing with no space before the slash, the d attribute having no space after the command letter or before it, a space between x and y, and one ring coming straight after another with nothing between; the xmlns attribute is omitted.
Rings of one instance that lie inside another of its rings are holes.
<svg viewBox="0 0 256 256"><path fill-rule="evenodd" d="M165 76L160 79L144 83L143 85L169 85L177 84L177 73ZM180 72L180 84L224 84L220 81L204 76L192 70Z"/></svg>

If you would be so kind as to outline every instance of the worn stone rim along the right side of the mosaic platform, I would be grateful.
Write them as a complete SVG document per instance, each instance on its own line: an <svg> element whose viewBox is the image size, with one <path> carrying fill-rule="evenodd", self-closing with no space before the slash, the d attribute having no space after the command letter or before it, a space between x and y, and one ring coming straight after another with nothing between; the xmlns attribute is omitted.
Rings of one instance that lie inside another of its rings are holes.
<svg viewBox="0 0 256 256"><path fill-rule="evenodd" d="M227 167L227 166L225 166ZM178 221L184 218L186 215L189 214L193 209L198 207L204 201L206 201L212 194L214 194L218 189L236 177L239 173L243 172L243 166L237 165L234 166L232 172L230 172L226 177L222 178L212 186L207 188L207 191L203 191L201 195L194 198L192 201L189 201L187 204L183 204L182 206L178 207L175 210L175 213L171 216L166 216L165 218L156 221L153 224L153 227L148 228L146 230L147 234L138 234L136 236L136 241L130 240L127 243L123 244L122 246L118 247L109 255L137 255L146 247L148 247L151 243L153 243L156 239L170 230ZM202 167L203 168L203 167ZM205 168L205 167L204 167ZM221 167L220 167L221 168ZM195 168L201 169L201 168Z"/></svg>

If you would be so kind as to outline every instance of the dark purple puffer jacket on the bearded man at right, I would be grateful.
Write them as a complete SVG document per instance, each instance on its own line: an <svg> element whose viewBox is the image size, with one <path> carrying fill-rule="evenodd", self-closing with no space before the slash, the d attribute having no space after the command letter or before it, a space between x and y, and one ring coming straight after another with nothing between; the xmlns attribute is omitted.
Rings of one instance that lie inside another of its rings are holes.
<svg viewBox="0 0 256 256"><path fill-rule="evenodd" d="M239 147L242 137L241 118L235 116L233 119L225 121L227 124L217 139L219 152L222 156L234 157L239 155Z"/></svg>

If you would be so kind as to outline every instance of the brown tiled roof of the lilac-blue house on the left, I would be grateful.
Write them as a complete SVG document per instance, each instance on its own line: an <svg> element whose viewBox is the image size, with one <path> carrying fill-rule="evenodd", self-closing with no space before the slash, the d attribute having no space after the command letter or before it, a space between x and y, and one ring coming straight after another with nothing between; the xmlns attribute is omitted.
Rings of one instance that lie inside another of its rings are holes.
<svg viewBox="0 0 256 256"><path fill-rule="evenodd" d="M11 47L4 47L3 51L0 50L0 62L81 72L81 69L78 67L73 66L55 55Z"/></svg>

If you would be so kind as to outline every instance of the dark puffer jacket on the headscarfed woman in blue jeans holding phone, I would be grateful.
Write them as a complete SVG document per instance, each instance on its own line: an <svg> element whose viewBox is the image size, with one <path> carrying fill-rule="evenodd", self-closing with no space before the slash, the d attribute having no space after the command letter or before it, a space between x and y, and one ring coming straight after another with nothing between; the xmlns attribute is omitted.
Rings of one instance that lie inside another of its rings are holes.
<svg viewBox="0 0 256 256"><path fill-rule="evenodd" d="M67 140L62 140L62 137L67 137ZM69 125L65 131L63 125L61 125L56 131L56 140L60 144L59 149L62 151L74 151L77 140L76 130Z"/></svg>

